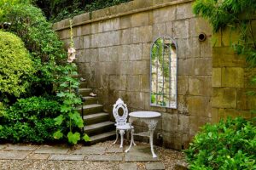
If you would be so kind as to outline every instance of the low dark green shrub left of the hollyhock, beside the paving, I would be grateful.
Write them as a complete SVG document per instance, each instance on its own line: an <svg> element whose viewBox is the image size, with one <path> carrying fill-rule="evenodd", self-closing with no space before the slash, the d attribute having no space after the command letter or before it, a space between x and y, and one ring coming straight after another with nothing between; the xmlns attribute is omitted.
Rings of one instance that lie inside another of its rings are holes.
<svg viewBox="0 0 256 170"><path fill-rule="evenodd" d="M60 128L55 125L54 118L59 115L60 110L60 105L56 101L42 97L19 99L3 114L0 141L53 141L53 133Z"/></svg>

